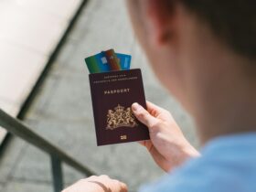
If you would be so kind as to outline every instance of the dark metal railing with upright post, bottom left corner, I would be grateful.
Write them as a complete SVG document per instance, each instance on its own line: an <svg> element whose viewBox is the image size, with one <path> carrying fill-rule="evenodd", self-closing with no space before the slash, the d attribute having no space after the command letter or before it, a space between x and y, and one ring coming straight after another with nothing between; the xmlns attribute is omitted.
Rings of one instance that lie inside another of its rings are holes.
<svg viewBox="0 0 256 192"><path fill-rule="evenodd" d="M29 144L33 144L39 150L46 152L50 155L51 159L51 170L53 187L55 192L59 192L63 188L63 175L61 163L66 163L67 165L78 170L86 176L95 175L90 168L81 165L77 160L71 156L65 154L54 144L51 144L46 139L33 132L27 125L17 120L16 118L10 116L6 112L0 109L0 126L5 128L9 133L12 133L21 139L25 140Z"/></svg>

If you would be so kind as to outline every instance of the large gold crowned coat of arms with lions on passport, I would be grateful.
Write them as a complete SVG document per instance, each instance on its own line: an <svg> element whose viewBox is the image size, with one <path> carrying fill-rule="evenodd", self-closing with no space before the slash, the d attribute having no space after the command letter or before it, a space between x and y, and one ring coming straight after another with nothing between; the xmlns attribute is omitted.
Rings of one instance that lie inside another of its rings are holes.
<svg viewBox="0 0 256 192"><path fill-rule="evenodd" d="M109 110L107 114L107 130L114 130L118 127L135 127L138 124L133 115L131 107L125 107L118 104L114 110Z"/></svg>

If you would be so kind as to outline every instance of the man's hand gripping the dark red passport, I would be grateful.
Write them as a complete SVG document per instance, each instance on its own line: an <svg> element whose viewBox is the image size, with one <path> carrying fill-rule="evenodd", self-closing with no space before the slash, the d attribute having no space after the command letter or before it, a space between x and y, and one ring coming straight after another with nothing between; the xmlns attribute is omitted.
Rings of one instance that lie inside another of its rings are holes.
<svg viewBox="0 0 256 192"><path fill-rule="evenodd" d="M132 109L136 118L144 123L150 134L150 140L142 144L153 156L155 163L166 172L181 165L189 157L197 157L197 150L187 142L170 112L147 101L146 111L138 103Z"/></svg>

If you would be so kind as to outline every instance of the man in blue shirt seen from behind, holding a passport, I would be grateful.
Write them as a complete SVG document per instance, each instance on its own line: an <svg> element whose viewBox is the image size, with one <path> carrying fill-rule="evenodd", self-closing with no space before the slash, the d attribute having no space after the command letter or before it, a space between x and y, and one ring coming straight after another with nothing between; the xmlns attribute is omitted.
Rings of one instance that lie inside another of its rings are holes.
<svg viewBox="0 0 256 192"><path fill-rule="evenodd" d="M159 80L197 123L201 155L171 114L151 102L133 113L143 144L169 172L142 191L256 191L256 11L253 0L128 0L135 33ZM91 176L64 192L128 191Z"/></svg>

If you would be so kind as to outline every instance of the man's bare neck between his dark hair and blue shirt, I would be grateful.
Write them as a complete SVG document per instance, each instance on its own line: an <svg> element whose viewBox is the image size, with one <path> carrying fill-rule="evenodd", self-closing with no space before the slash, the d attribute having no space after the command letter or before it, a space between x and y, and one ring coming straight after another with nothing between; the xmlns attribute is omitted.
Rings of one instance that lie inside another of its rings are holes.
<svg viewBox="0 0 256 192"><path fill-rule="evenodd" d="M197 100L200 111L195 116L203 144L221 135L256 132L256 64L225 56L214 62L220 72Z"/></svg>

